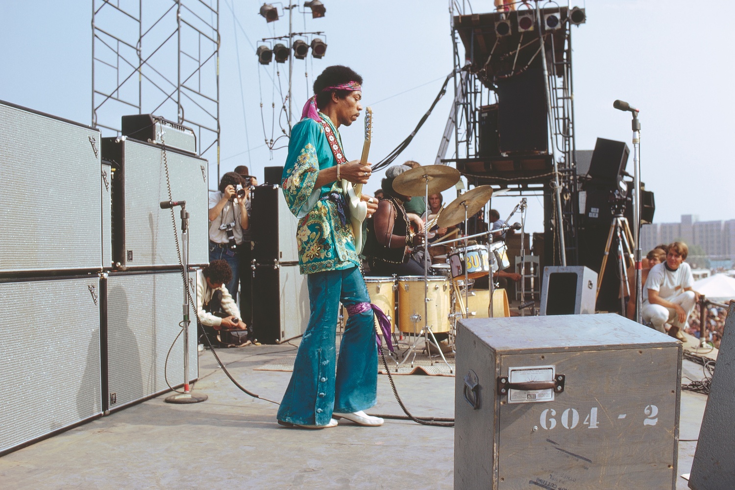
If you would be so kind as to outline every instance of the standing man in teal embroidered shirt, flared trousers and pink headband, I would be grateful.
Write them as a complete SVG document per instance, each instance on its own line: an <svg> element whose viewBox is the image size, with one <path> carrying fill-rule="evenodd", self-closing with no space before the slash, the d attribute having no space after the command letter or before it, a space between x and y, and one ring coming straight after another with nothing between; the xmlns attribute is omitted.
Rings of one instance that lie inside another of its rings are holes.
<svg viewBox="0 0 735 490"><path fill-rule="evenodd" d="M350 68L326 68L291 131L282 190L298 218L298 262L307 275L311 314L278 412L279 424L287 427L334 427L333 415L359 425L383 423L363 411L376 403L378 353L342 185L343 179L353 184L370 179L370 164L346 161L339 132L359 118L361 84L362 77ZM360 199L368 216L376 212L375 198ZM347 322L335 376L340 301L359 311Z"/></svg>

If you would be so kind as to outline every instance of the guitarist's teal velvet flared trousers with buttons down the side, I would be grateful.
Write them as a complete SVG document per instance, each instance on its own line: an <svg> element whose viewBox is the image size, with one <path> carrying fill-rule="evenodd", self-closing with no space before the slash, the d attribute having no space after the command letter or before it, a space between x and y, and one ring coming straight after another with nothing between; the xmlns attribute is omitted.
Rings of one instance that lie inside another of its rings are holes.
<svg viewBox="0 0 735 490"><path fill-rule="evenodd" d="M278 419L300 425L327 425L333 411L351 413L376 404L378 347L373 311L347 320L335 375L334 341L340 300L370 302L358 267L309 274L311 314Z"/></svg>

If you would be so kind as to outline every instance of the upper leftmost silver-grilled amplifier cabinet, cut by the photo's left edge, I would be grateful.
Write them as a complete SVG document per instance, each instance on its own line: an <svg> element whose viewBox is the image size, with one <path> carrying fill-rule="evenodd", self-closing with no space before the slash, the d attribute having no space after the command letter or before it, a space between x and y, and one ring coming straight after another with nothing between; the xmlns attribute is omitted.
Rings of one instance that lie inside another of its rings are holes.
<svg viewBox="0 0 735 490"><path fill-rule="evenodd" d="M100 139L0 101L0 273L101 269Z"/></svg>

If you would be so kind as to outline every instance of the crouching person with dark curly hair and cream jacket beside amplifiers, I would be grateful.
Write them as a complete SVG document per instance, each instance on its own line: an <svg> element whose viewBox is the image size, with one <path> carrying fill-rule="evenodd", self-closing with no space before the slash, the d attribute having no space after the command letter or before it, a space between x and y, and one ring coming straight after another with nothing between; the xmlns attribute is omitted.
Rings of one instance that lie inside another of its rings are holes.
<svg viewBox="0 0 735 490"><path fill-rule="evenodd" d="M243 334L238 338L247 340L247 325L240 320L240 310L225 287L232 280L232 270L224 260L213 260L196 273L196 314L201 328L207 332L214 342L221 331L239 329ZM204 333L200 331L199 336ZM223 344L231 344L225 342Z"/></svg>

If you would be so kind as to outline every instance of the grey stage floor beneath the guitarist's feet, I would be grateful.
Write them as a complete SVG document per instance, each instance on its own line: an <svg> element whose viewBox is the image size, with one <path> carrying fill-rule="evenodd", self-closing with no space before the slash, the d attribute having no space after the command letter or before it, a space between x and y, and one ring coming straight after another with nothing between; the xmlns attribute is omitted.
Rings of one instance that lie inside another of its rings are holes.
<svg viewBox="0 0 735 490"><path fill-rule="evenodd" d="M291 373L255 368L293 361L297 344L218 353L247 389L280 401ZM199 375L195 392L209 396L204 403L171 405L165 394L5 455L3 488L453 488L452 428L395 419L379 428L351 422L282 428L277 407L240 392L208 350L200 353ZM684 375L702 379L702 367L684 361ZM455 378L398 375L394 381L415 416L453 417ZM403 415L385 375L379 375L378 400L369 413ZM680 439L697 439L705 404L703 394L681 393ZM689 472L695 444L680 443L679 475ZM686 480L677 478L676 489L687 489Z"/></svg>

